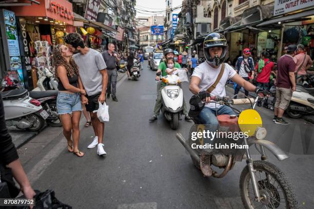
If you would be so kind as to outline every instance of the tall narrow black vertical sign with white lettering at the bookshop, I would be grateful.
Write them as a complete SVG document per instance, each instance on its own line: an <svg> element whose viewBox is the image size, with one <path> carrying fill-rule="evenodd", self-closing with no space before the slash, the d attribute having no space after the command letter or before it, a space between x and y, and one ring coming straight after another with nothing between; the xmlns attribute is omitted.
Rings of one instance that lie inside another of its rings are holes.
<svg viewBox="0 0 314 209"><path fill-rule="evenodd" d="M26 31L26 20L23 17L19 18L19 27L21 29L21 37L22 37L22 46L24 51L24 62L25 68L27 71L32 70L32 65L30 63L30 56L29 56L29 47L28 47L28 40L27 40L27 31Z"/></svg>

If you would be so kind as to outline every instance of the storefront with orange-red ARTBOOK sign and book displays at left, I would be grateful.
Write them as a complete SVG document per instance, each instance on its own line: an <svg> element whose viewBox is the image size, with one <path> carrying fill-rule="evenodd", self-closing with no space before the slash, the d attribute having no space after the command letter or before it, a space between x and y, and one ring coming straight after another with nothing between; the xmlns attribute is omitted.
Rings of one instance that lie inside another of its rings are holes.
<svg viewBox="0 0 314 209"><path fill-rule="evenodd" d="M53 69L51 51L56 44L63 43L62 36L71 30L74 21L72 4L66 0L40 0L40 4L9 8L8 24L1 25L9 30L6 55L6 74L17 71L25 88L36 87L37 77L44 68ZM4 18L6 18L4 16ZM13 19L14 18L14 24ZM16 31L15 31L16 30ZM10 38L16 34L16 40ZM14 49L14 50L13 50ZM18 50L17 50L18 49ZM6 53L5 53L6 54ZM14 67L13 67L14 66Z"/></svg>

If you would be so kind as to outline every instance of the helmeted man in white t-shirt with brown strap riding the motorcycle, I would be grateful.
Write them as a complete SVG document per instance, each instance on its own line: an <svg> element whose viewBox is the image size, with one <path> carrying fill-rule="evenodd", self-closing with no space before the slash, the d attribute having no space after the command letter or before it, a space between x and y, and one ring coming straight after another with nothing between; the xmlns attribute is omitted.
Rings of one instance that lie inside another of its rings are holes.
<svg viewBox="0 0 314 209"><path fill-rule="evenodd" d="M228 79L238 83L247 91L258 91L259 89L250 82L243 79L235 70L223 63L227 56L227 40L220 33L211 33L204 39L204 54L206 61L194 69L190 82L190 91L194 95L190 99L189 116L199 123L210 124L212 131L218 128L216 115L232 115L233 110L225 105L210 103L210 94L226 96L225 85ZM205 100L202 103L201 100ZM197 106L197 107L195 107ZM211 175L210 155L201 155L201 169L203 174Z"/></svg>

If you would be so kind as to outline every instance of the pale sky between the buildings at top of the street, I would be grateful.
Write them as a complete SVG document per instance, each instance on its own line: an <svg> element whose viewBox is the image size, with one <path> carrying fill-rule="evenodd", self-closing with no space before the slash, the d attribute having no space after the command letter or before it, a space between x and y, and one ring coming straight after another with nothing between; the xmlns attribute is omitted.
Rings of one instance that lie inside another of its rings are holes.
<svg viewBox="0 0 314 209"><path fill-rule="evenodd" d="M172 8L178 7L182 5L182 0L172 0ZM147 10L151 12L144 12L137 10L136 17L138 16L152 16L158 15L162 16L166 14L166 1L165 0L136 0L136 6L135 8L141 9L141 10ZM153 8L153 9L152 9ZM161 12L164 11L164 12ZM181 9L173 11L173 13L179 13ZM141 13L140 13L141 12ZM161 12L161 13L152 13L152 12ZM145 13L145 14L143 14Z"/></svg>

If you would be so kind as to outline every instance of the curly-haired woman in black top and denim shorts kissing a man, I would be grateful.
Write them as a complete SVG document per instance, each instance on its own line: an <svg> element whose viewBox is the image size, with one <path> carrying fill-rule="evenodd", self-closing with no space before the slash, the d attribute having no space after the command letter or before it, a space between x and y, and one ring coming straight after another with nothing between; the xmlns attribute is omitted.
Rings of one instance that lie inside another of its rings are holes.
<svg viewBox="0 0 314 209"><path fill-rule="evenodd" d="M57 45L53 50L55 76L58 78L59 90L57 111L61 118L63 134L68 141L68 151L73 152L78 157L83 157L84 153L78 150L82 111L80 94L85 95L86 91L77 88L81 79L72 55L73 53L64 45Z"/></svg>

